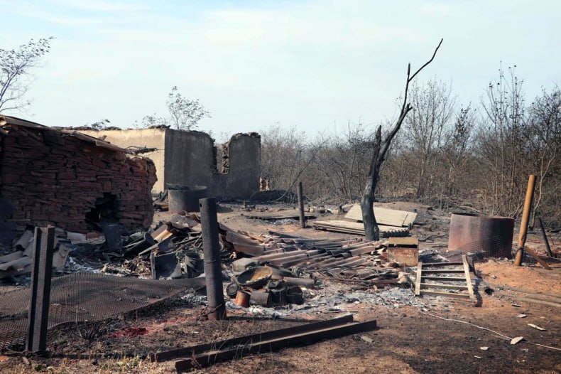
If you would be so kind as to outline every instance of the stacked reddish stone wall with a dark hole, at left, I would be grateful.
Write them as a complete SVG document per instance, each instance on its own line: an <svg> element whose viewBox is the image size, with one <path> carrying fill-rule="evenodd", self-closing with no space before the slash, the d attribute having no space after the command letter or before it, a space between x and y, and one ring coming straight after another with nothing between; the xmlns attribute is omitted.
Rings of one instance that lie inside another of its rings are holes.
<svg viewBox="0 0 561 374"><path fill-rule="evenodd" d="M78 139L49 127L0 126L0 196L13 205L9 220L86 233L86 215L114 196L114 218L129 230L152 223L156 166L143 157Z"/></svg>

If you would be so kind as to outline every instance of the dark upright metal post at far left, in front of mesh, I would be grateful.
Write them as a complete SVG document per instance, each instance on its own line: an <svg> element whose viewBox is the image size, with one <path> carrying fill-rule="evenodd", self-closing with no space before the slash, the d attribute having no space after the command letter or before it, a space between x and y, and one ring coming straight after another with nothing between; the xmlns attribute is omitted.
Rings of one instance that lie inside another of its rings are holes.
<svg viewBox="0 0 561 374"><path fill-rule="evenodd" d="M35 228L33 273L31 273L31 301L27 351L43 354L47 351L47 326L50 305L50 276L53 272L55 228Z"/></svg>

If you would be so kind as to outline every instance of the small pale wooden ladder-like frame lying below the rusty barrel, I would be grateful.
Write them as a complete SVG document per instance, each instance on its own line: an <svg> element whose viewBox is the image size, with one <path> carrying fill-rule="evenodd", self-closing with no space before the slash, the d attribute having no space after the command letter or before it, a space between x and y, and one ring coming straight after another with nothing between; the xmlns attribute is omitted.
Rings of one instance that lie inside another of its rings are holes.
<svg viewBox="0 0 561 374"><path fill-rule="evenodd" d="M457 276L454 276L457 275ZM438 283L425 283L425 281ZM452 283L453 282L453 283ZM464 282L464 284L457 284ZM432 289L460 289L466 292L444 292ZM466 255L462 255L462 262L419 262L417 265L417 279L415 279L415 295L431 294L435 296L455 297L457 299L475 300L472 278L469 276L469 265Z"/></svg>

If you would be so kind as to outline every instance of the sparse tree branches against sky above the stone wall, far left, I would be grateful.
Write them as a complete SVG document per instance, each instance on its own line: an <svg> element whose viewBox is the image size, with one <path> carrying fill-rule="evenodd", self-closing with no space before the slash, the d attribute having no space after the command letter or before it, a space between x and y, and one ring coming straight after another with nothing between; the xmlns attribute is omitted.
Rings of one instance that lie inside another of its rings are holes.
<svg viewBox="0 0 561 374"><path fill-rule="evenodd" d="M40 59L50 50L50 38L29 41L17 49L0 48L0 112L22 109L30 104L23 96L30 83L30 71L38 67Z"/></svg>

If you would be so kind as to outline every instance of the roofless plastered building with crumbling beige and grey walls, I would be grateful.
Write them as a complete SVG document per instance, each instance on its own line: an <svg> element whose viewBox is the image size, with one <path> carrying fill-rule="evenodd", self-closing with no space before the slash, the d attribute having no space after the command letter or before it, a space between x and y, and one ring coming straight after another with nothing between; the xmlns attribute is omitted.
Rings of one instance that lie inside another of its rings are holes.
<svg viewBox="0 0 561 374"><path fill-rule="evenodd" d="M153 193L168 184L207 186L217 198L249 198L259 191L261 137L236 134L225 144L214 144L205 132L166 128L81 131L123 148L155 148L146 154L156 164L158 181Z"/></svg>

